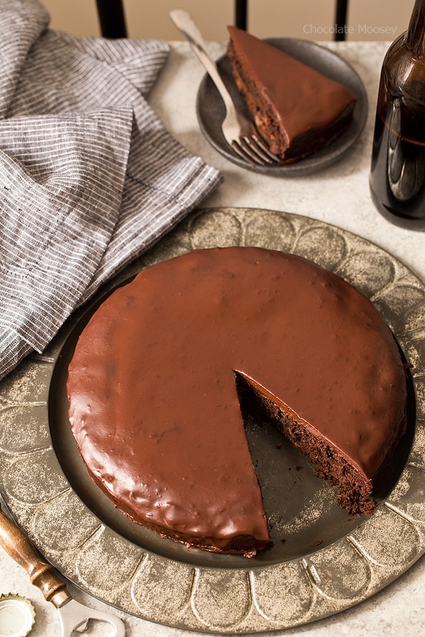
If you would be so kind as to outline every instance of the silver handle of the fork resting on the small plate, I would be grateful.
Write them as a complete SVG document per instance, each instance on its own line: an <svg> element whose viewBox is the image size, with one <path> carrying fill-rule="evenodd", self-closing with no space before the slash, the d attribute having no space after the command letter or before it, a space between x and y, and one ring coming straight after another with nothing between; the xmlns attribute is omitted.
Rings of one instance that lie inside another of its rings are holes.
<svg viewBox="0 0 425 637"><path fill-rule="evenodd" d="M173 11L170 11L170 18L179 29L180 33L186 38L186 40L188 40L193 52L196 54L196 57L198 57L201 64L203 64L203 67L210 75L215 86L217 86L217 90L225 103L226 110L228 106L232 108L232 97L230 96L229 91L227 91L225 83L222 81L217 65L208 52L205 41L191 14L188 13L186 9L174 9Z"/></svg>

